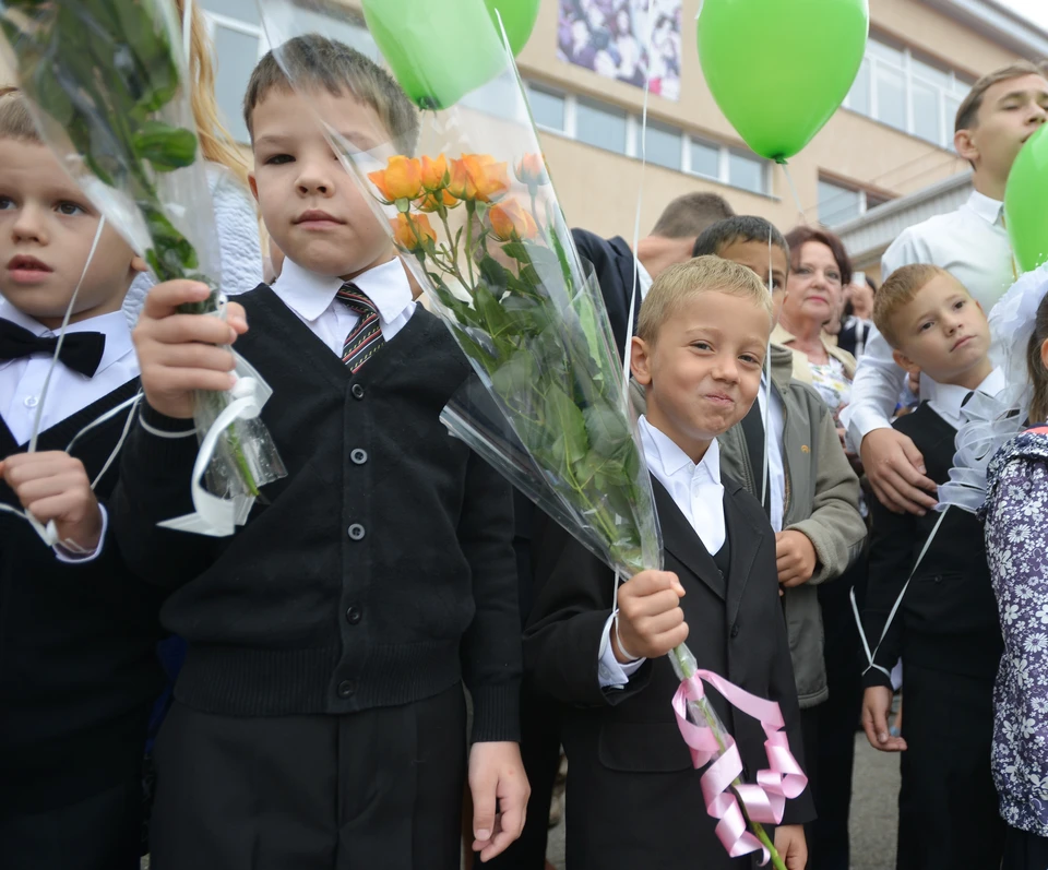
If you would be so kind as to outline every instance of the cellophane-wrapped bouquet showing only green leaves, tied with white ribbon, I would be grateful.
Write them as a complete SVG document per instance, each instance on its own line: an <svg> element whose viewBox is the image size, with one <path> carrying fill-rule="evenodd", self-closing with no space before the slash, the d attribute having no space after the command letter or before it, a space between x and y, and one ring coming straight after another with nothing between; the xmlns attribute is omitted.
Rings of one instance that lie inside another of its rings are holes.
<svg viewBox="0 0 1048 870"><path fill-rule="evenodd" d="M212 288L187 313L221 315L214 210L174 3L0 0L0 47L59 162L157 281ZM196 393L201 438L231 401L230 393ZM207 488L250 502L284 474L262 421L238 418L217 441Z"/></svg>

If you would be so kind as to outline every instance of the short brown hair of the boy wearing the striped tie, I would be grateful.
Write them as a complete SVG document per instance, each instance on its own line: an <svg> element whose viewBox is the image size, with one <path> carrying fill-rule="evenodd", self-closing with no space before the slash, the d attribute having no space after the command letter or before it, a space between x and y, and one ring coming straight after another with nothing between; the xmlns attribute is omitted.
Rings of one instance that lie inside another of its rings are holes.
<svg viewBox="0 0 1048 870"><path fill-rule="evenodd" d="M286 70L286 71L285 71ZM272 91L291 91L296 84L323 88L334 96L352 96L374 109L385 131L403 154L415 150L418 112L407 94L370 58L319 34L296 36L259 61L243 97L243 121L254 141L254 108Z"/></svg>

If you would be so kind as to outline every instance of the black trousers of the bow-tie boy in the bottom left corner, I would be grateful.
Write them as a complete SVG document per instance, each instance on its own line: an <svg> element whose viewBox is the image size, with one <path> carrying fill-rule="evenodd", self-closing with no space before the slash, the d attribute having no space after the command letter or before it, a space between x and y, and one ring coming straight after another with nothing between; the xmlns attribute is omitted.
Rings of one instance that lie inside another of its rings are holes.
<svg viewBox="0 0 1048 870"><path fill-rule="evenodd" d="M141 752L138 753L141 761ZM73 803L0 812L3 870L138 870L142 846L141 767L122 783Z"/></svg>

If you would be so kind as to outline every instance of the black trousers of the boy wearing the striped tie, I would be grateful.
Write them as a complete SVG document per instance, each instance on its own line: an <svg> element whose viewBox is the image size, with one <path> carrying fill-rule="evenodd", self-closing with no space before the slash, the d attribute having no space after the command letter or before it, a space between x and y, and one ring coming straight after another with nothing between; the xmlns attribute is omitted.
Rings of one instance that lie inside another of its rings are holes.
<svg viewBox="0 0 1048 870"><path fill-rule="evenodd" d="M345 716L177 703L156 742L153 870L458 870L461 684Z"/></svg>

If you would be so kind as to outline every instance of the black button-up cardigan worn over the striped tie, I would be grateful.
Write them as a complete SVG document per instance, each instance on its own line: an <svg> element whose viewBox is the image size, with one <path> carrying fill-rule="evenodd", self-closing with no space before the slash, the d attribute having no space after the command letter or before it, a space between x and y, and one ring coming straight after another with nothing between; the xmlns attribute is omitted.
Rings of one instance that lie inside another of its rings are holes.
<svg viewBox="0 0 1048 870"><path fill-rule="evenodd" d="M265 285L237 297L237 350L287 477L229 538L156 527L189 513L192 438L135 427L114 524L131 565L171 589L188 654L176 696L226 715L352 713L465 676L474 737L517 737L520 622L510 486L441 425L472 372L417 309L356 374ZM154 427L184 430L143 409ZM461 659L461 660L460 660Z"/></svg>

